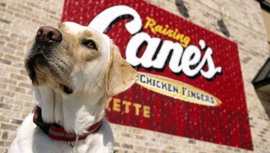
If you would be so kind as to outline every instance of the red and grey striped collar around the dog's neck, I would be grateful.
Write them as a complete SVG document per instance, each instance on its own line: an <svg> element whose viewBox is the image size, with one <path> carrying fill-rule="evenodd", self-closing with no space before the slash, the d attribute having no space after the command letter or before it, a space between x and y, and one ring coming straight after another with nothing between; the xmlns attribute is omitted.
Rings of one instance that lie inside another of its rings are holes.
<svg viewBox="0 0 270 153"><path fill-rule="evenodd" d="M55 140L68 141L68 142L71 142L71 141L78 142L78 140L83 140L88 135L97 133L99 131L99 129L101 128L101 126L102 126L102 120L101 120L101 121L97 122L96 124L90 126L87 129L88 132L86 134L84 134L84 135L79 135L78 136L76 133L75 134L74 133L67 133L64 130L64 128L62 128L61 126L59 126L56 123L53 123L53 124L45 123L43 121L43 119L42 119L41 108L39 106L36 106L33 122L37 126L39 126L41 128L41 130L45 134L47 134L50 138L55 139ZM74 145L74 147L76 147L76 146Z"/></svg>

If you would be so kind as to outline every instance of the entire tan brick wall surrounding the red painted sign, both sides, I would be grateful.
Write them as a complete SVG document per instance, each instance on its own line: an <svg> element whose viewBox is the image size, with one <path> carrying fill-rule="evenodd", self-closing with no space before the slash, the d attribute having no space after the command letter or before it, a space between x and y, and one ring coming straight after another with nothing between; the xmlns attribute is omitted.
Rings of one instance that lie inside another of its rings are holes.
<svg viewBox="0 0 270 153"><path fill-rule="evenodd" d="M146 0L179 13L175 0ZM270 153L270 95L256 92L251 80L269 57L261 8L255 0L182 0L188 20L226 37L217 26L223 19L228 39L238 44L254 152ZM41 25L60 21L63 0L0 1L0 152L6 152L15 130L32 110L31 83L23 65L23 46ZM186 15L185 15L186 16ZM111 124L118 153L250 152L213 143Z"/></svg>

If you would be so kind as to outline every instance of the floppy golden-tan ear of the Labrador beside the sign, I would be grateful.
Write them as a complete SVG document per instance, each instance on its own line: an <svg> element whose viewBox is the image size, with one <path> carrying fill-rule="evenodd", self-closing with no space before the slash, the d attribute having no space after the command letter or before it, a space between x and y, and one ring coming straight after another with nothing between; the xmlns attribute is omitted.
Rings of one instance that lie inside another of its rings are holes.
<svg viewBox="0 0 270 153"><path fill-rule="evenodd" d="M118 47L110 43L110 60L106 71L108 97L125 91L137 78L136 70L121 57Z"/></svg>

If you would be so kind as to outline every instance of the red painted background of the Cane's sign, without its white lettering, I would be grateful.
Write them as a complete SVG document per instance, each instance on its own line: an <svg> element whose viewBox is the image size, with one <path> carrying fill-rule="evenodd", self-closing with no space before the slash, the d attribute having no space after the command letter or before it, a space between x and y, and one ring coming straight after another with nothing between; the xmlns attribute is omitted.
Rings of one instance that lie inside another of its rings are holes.
<svg viewBox="0 0 270 153"><path fill-rule="evenodd" d="M175 96L151 90L137 83L108 101L108 120L112 123L253 150L237 45L142 0L66 0L62 21L73 21L87 26L98 14L117 5L133 8L142 21L142 25L138 24L141 26L141 30L133 35L125 27L126 23L134 20L130 14L118 18L108 29L108 36L119 47L123 58L126 58L129 51L126 50L127 44L131 43L131 39L138 36L139 33L148 34L151 38L160 38L163 44L165 40L181 43L168 35L159 32L153 33L150 27L145 28L147 17L155 20L156 25L161 25L163 28L167 27L167 29L174 31L177 28L180 34L190 38L187 46L187 43L182 42L183 54L190 51L187 48L191 45L200 49L199 41L204 40L206 46L213 51L211 57L215 68L222 69L222 73L216 73L215 77L206 78L201 73L188 76L183 71L173 73L169 68L171 57L167 57L164 69L144 68L141 65L133 66L138 72L146 73L146 75L164 77L164 82L172 79L180 84L186 83L188 89L192 90L194 89L192 87L195 87L199 89L200 93L206 92L206 95L209 93L220 100L221 104L208 106L202 103L192 103L189 100L175 98ZM125 10L112 11L111 15L117 14L117 11L124 12ZM110 14L108 18L110 18ZM100 23L100 25L103 24L105 23ZM134 26L136 27L137 24ZM134 44L131 45L136 47L136 43ZM146 46L142 47L141 50L138 49L137 57L141 58L145 51ZM202 61L206 51L206 49L200 49L201 58L198 63ZM190 57L188 60L192 60L192 58L194 57ZM190 69L195 69L198 63L190 66ZM208 62L205 63L202 70L206 72L209 70ZM178 87L180 90L181 85ZM179 91L179 96L181 96L181 91ZM197 99L197 101L200 100ZM128 109L125 110L125 108Z"/></svg>

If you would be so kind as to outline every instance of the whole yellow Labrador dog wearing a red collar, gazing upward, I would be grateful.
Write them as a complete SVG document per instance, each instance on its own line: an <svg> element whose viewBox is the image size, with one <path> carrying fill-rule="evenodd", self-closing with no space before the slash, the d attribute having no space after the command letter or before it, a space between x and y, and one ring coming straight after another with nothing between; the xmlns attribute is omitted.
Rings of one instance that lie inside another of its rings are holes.
<svg viewBox="0 0 270 153"><path fill-rule="evenodd" d="M23 121L8 153L112 153L105 103L137 78L112 40L64 22L41 27L26 52L37 107Z"/></svg>

